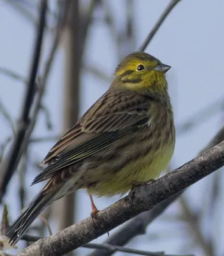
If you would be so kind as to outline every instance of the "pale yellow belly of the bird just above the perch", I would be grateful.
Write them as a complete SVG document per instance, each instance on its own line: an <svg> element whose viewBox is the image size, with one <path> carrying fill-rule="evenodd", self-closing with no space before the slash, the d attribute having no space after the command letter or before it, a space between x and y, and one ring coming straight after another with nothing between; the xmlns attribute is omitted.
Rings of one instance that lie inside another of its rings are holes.
<svg viewBox="0 0 224 256"><path fill-rule="evenodd" d="M89 186L89 192L97 196L123 195L131 189L134 181L144 182L155 179L169 163L174 152L174 144L170 143L156 152L131 160L123 168L113 172L113 168L107 170L91 170L94 172L93 186ZM119 159L114 159L119 161Z"/></svg>

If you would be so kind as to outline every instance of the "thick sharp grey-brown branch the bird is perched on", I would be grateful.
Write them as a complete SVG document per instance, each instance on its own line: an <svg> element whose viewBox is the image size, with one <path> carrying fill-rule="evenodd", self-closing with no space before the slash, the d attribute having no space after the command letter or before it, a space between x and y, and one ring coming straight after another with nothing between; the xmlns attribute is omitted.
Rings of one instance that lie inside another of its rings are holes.
<svg viewBox="0 0 224 256"><path fill-rule="evenodd" d="M71 252L181 193L223 165L224 141L160 179L131 190L128 196L98 212L94 222L90 217L82 220L54 236L40 239L18 255L64 255Z"/></svg>

